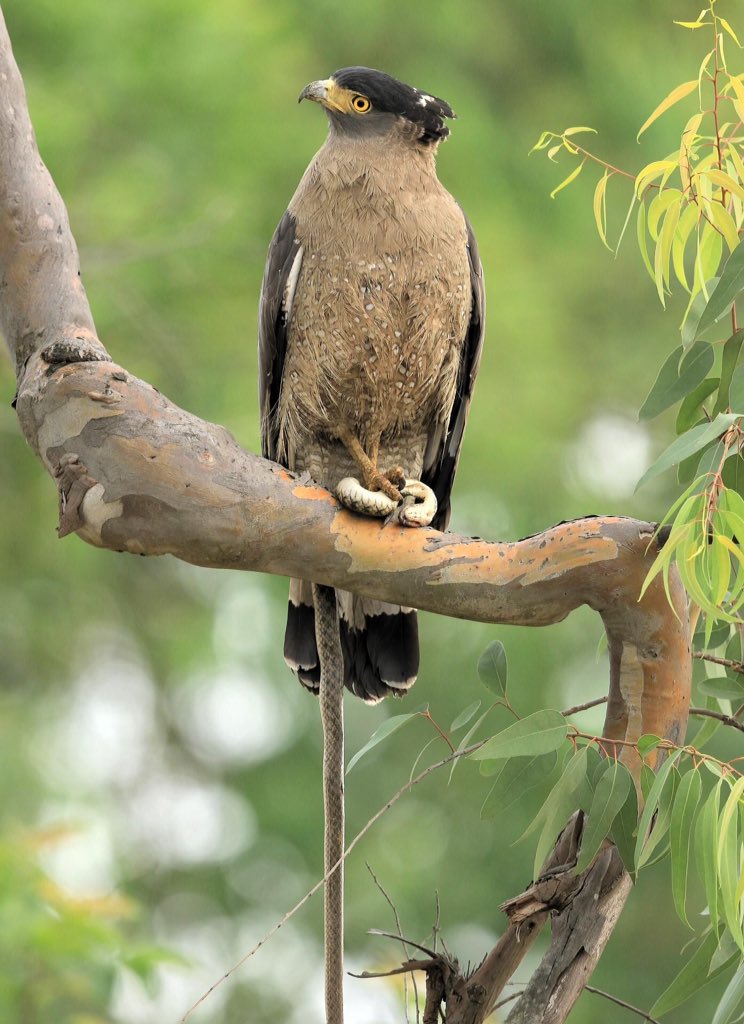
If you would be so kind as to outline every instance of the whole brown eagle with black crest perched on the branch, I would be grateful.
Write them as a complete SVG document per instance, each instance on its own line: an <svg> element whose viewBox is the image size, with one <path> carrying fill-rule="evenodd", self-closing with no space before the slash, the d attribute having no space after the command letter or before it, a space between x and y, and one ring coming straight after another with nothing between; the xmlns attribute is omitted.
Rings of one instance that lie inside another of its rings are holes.
<svg viewBox="0 0 744 1024"><path fill-rule="evenodd" d="M444 528L483 337L475 240L435 169L453 115L368 69L337 72L304 96L325 106L331 130L269 250L264 454L330 489L361 476L397 495L402 470L433 488L433 525ZM415 612L344 593L338 605L349 688L367 700L407 689ZM317 689L311 591L299 581L285 654Z"/></svg>

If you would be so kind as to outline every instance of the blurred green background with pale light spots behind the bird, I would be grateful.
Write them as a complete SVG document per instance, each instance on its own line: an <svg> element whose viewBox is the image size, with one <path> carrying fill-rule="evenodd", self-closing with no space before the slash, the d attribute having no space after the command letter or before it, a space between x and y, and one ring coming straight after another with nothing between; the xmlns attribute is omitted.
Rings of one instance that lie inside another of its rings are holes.
<svg viewBox="0 0 744 1024"><path fill-rule="evenodd" d="M736 22L734 4L720 13ZM99 335L131 372L259 447L256 314L266 247L312 154L310 80L365 63L446 97L459 115L440 175L468 212L488 286L488 332L451 528L516 539L584 513L658 517L662 478L634 482L671 438L636 411L677 343L628 238L616 260L592 216L588 171L527 154L539 132L600 129L636 170L674 144L687 108L636 133L694 77L707 40L672 25L686 0L6 0L42 156L70 211ZM741 26L739 26L741 28ZM616 234L629 194L610 184ZM618 199L615 203L614 200ZM167 1024L310 887L321 867L317 705L281 658L286 582L57 541L52 481L10 409L0 359L0 1019ZM601 695L597 616L538 632L422 615L423 663L404 703L347 701L348 751L426 701L448 727L488 699L475 671L507 645L520 712ZM582 722L601 729L602 711ZM492 715L495 727L504 719ZM349 776L353 836L434 737L417 721ZM726 753L726 748L720 748ZM425 758L446 753L435 741ZM731 754L730 754L731 756ZM543 795L481 821L477 766L435 773L364 839L348 868L348 961L381 970L406 935L441 934L477 962L498 904L529 881L512 844ZM699 911L699 893L692 897ZM212 1024L322 1019L320 898L194 1014ZM648 1008L684 963L665 865L651 868L595 983ZM185 957L160 963L161 947ZM536 956L523 967L526 978ZM706 1021L725 980L666 1018ZM354 1024L399 1022L398 981L347 985ZM585 993L576 1024L626 1021Z"/></svg>

